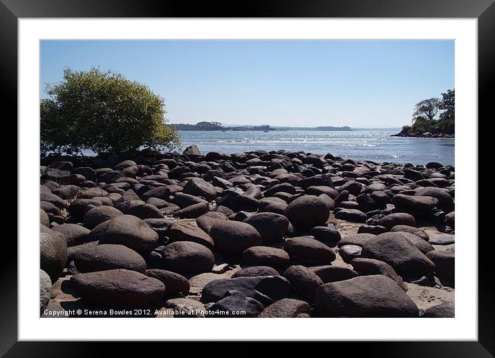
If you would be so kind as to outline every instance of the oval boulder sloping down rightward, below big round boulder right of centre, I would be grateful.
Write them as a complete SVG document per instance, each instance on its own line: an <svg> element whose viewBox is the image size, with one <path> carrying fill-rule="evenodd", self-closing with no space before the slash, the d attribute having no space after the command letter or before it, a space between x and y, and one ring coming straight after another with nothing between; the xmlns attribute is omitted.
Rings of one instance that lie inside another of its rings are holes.
<svg viewBox="0 0 495 358"><path fill-rule="evenodd" d="M289 238L283 243L283 249L291 258L303 262L328 264L336 258L333 249L309 237Z"/></svg>

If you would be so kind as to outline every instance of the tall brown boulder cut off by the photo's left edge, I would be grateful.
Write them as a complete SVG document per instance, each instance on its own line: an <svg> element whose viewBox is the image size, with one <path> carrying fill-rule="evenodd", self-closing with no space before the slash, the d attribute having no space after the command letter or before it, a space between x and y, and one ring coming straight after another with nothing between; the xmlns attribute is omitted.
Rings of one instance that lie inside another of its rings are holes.
<svg viewBox="0 0 495 358"><path fill-rule="evenodd" d="M39 234L39 267L52 279L62 274L67 263L67 241L64 234L46 229Z"/></svg>

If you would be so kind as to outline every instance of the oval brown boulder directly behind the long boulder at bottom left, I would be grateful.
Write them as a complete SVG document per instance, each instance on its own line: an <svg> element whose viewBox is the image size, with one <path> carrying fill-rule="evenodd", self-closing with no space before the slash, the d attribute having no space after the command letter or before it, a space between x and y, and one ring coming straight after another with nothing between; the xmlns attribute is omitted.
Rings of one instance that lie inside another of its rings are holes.
<svg viewBox="0 0 495 358"><path fill-rule="evenodd" d="M73 255L73 261L79 272L95 272L114 269L126 269L137 272L146 271L146 262L140 254L124 245L102 244L88 245Z"/></svg>

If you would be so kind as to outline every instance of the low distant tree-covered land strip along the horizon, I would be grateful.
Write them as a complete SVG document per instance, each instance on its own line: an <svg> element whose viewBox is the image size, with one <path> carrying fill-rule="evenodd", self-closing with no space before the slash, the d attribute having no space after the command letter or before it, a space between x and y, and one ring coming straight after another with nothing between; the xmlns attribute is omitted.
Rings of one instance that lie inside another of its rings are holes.
<svg viewBox="0 0 495 358"><path fill-rule="evenodd" d="M277 126L272 127L268 124L259 126L241 125L241 126L223 126L220 122L198 122L196 124L167 124L177 131L352 131L349 126Z"/></svg>

